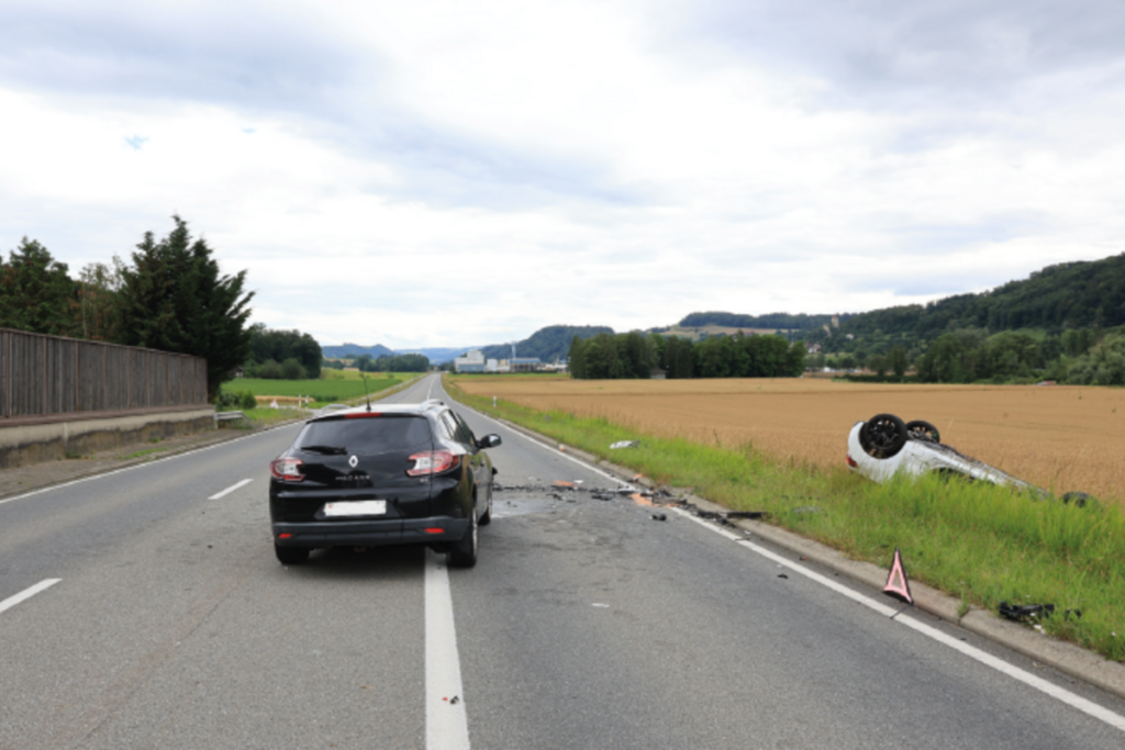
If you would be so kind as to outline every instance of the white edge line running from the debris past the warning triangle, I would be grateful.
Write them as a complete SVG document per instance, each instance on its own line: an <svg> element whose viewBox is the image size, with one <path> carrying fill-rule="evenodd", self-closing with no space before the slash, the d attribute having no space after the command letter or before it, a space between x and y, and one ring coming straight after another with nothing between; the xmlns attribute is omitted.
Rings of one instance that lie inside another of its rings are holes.
<svg viewBox="0 0 1125 750"><path fill-rule="evenodd" d="M670 509L673 512L675 512L675 513L678 513L680 515L682 515L683 517L687 518L688 521L694 521L695 523L698 523L699 525L703 526L704 528L713 531L714 533L717 533L717 534L719 534L721 536L724 536L727 539L730 539L730 540L734 540L736 542L739 542L742 546L757 552L758 554L760 554L762 557L764 557L764 558L766 558L768 560L773 560L774 562L781 563L785 568L792 570L795 573L800 573L800 575L804 576L809 580L813 580L813 581L816 581L816 582L818 582L818 584L820 584L822 586L827 586L828 588L832 589L834 591L836 591L838 594L843 594L844 596L846 596L847 598L852 599L853 602L858 602L863 606L870 607L871 609L874 609L875 612L878 612L881 615L890 617L891 615L893 615L897 612L897 609L894 607L889 607L885 604L880 604L879 602L875 602L874 599L871 599L871 598L864 596L863 594L860 594L858 591L852 590L850 588L848 588L847 586L844 586L844 585L839 584L838 581L835 581L835 580L832 580L830 578L826 578L825 576L821 576L818 572L813 572L812 570L809 570L808 568L806 568L803 566L799 566L799 564L796 564L796 563L794 563L794 562L792 562L792 561L783 558L780 554L771 552L770 550L767 550L765 548L758 546L754 542L750 542L750 541L748 541L748 540L739 536L738 534L734 534L734 533L727 531L726 528L719 528L718 526L713 526L713 525L709 524L708 522L703 521L702 518L699 518L699 517L692 515L691 513L688 513L688 512L686 512L686 510L684 510L682 508L670 508ZM929 625L920 623L917 620L915 620L914 617L909 617L909 616L906 616L906 615L899 615L898 617L894 618L894 622L901 623L901 624L906 625L907 627L910 627L911 630L914 630L914 631L916 631L916 632L918 632L918 633L920 633L922 635L926 635L927 638L932 638L935 641L937 641L938 643L947 645L947 647L950 647L951 649L953 649L955 651L960 651L961 653L965 654L970 659L974 659L975 661L979 661L980 663L984 665L986 667L991 667L992 669L996 669L997 671L1002 672L1004 675L1007 675L1008 677L1011 677L1012 679L1019 680L1020 683L1023 683L1023 684L1025 684L1025 685L1027 685L1029 687L1033 687L1036 690L1040 690L1041 693L1045 693L1045 694L1050 695L1052 698L1055 698L1058 701L1062 701L1063 703L1065 703L1066 705L1071 706L1072 708L1077 708L1077 710L1081 711L1082 713L1084 713L1084 714L1087 714L1089 716L1092 716L1092 717L1095 717L1095 719L1097 719L1099 721L1102 721L1102 722L1109 724L1110 726L1113 726L1115 729L1119 729L1122 731L1125 731L1125 716L1122 716L1120 714L1116 714L1116 713L1109 711L1108 708L1099 706L1098 704L1094 703L1092 701L1087 701L1086 698L1083 698L1080 695L1074 695L1070 690L1063 689L1063 688L1059 687L1058 685L1054 685L1053 683L1048 683L1045 679L1036 677L1035 675L1032 675L1030 672L1025 671L1025 670L1020 669L1019 667L1016 667L1014 665L1009 665L1007 661L1004 661L1002 659L998 659L997 657L993 657L992 654L990 654L990 653L988 653L986 651L981 651L978 648L974 648L972 645L969 645L968 643L958 641L957 639L955 639L955 638L953 638L953 636L951 636L951 635L948 635L946 633L943 633L942 631L939 631L939 630L937 630L935 627L932 627Z"/></svg>

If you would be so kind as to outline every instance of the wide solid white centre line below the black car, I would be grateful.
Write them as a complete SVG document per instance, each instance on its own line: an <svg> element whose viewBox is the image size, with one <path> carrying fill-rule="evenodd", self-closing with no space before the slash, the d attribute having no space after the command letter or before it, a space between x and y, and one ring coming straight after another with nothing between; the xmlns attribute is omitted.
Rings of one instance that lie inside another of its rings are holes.
<svg viewBox="0 0 1125 750"><path fill-rule="evenodd" d="M425 552L425 747L469 750L449 570L431 550Z"/></svg>

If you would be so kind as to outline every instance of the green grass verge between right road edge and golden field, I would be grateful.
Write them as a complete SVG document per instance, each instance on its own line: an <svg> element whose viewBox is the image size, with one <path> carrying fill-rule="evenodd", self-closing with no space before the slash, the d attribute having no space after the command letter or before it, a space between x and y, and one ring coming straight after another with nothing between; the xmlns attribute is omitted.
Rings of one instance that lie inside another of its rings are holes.
<svg viewBox="0 0 1125 750"><path fill-rule="evenodd" d="M575 419L469 396L458 400L559 442L627 466L652 480L889 567L902 550L908 575L965 604L1051 603L1053 635L1125 660L1125 513L1116 504L1077 508L988 484L924 477L878 485L843 466L777 461L753 444L717 448L641 434L604 418ZM639 448L611 451L611 443ZM843 445L842 437L842 445ZM843 451L843 449L842 449ZM843 463L843 461L842 461ZM964 606L963 606L964 608ZM1065 609L1082 616L1064 617Z"/></svg>

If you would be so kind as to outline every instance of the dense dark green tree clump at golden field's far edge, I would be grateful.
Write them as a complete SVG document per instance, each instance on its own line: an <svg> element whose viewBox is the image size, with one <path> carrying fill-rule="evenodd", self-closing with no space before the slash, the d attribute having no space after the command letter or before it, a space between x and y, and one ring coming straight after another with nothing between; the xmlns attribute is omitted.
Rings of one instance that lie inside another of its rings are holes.
<svg viewBox="0 0 1125 750"><path fill-rule="evenodd" d="M795 378L804 371L802 342L790 344L782 336L710 336L699 343L680 336L598 334L570 342L570 377L602 380L651 377L663 370L666 378Z"/></svg>

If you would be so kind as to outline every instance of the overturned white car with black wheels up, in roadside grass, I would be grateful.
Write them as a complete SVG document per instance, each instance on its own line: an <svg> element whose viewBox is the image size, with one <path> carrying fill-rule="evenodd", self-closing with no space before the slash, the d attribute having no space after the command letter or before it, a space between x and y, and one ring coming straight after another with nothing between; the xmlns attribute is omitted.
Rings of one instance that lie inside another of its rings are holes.
<svg viewBox="0 0 1125 750"><path fill-rule="evenodd" d="M847 439L847 464L853 471L878 482L898 472L917 477L932 471L954 473L994 485L1018 487L1050 497L1050 493L1016 479L1011 475L970 458L951 445L943 445L937 427L922 422L903 422L893 414L876 414L866 422L856 422ZM1068 493L1064 503L1086 505L1084 493Z"/></svg>

